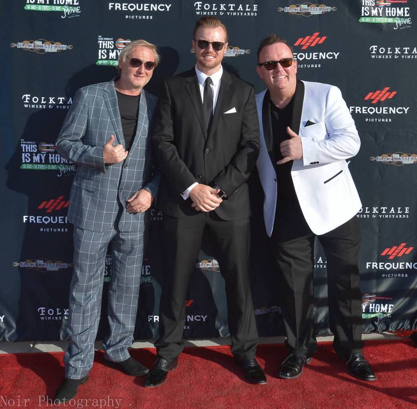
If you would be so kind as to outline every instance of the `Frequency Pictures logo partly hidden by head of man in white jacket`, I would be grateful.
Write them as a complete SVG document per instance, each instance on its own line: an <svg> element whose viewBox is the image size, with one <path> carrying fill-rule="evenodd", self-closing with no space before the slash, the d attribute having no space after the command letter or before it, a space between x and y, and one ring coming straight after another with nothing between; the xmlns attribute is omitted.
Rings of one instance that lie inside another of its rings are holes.
<svg viewBox="0 0 417 409"><path fill-rule="evenodd" d="M328 59L337 60L340 52L335 51L315 51L315 47L321 45L326 40L327 36L319 36L319 32L313 33L312 35L307 35L305 37L300 37L295 43L295 47L300 47L301 50L314 49L314 51L306 51L301 53L294 53L294 57L298 61L298 67L300 68L320 68L321 63L316 63L317 61L323 61ZM320 50L321 47L318 48ZM300 61L308 61L315 63L301 63Z"/></svg>

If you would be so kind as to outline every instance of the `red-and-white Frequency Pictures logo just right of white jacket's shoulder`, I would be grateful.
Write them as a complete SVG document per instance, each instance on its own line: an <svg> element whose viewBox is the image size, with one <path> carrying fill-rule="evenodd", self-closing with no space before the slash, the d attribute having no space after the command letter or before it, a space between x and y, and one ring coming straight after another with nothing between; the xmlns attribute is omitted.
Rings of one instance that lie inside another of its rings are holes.
<svg viewBox="0 0 417 409"><path fill-rule="evenodd" d="M367 92L363 100L367 101L369 106L350 106L350 113L366 115L365 122L392 122L396 115L407 115L409 106L383 106L385 102L395 103L397 91L390 89L389 86L376 91ZM373 117L376 115L376 117ZM390 117L386 117L386 116Z"/></svg>

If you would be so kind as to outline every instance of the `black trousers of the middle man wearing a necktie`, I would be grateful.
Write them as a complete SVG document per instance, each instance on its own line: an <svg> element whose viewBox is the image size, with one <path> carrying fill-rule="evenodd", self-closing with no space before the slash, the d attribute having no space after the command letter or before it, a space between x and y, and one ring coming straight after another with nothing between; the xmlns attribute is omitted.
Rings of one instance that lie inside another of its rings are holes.
<svg viewBox="0 0 417 409"><path fill-rule="evenodd" d="M165 279L159 309L158 356L168 361L183 350L185 298L206 230L225 281L232 353L237 359L255 358L258 345L249 285L249 219L222 220L215 212L181 218L164 215Z"/></svg>

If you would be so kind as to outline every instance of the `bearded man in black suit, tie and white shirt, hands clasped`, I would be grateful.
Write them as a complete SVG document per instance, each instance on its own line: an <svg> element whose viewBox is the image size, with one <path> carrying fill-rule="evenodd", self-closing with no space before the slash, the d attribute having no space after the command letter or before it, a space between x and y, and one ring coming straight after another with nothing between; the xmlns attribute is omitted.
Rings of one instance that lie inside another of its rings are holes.
<svg viewBox="0 0 417 409"><path fill-rule="evenodd" d="M227 30L202 17L194 29L192 70L163 83L153 141L162 179L165 279L159 312L158 359L145 386L162 384L183 350L185 297L204 231L225 280L232 353L253 383L266 383L256 359L258 332L248 277L246 181L259 153L251 85L223 70Z"/></svg>

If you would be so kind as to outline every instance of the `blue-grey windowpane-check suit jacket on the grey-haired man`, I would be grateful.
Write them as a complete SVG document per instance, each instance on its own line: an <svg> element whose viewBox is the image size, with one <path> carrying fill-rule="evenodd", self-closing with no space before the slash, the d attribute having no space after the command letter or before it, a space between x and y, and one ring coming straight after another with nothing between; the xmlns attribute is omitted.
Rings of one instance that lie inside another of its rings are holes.
<svg viewBox="0 0 417 409"><path fill-rule="evenodd" d="M123 162L105 165L103 146L111 134L115 135L115 145L125 147L114 80L80 88L75 94L55 145L62 156L77 164L68 220L81 229L144 229L149 212L128 213L126 201L140 189L155 197L160 175L154 172L150 134L157 99L143 89L140 95L136 135L129 155Z"/></svg>

